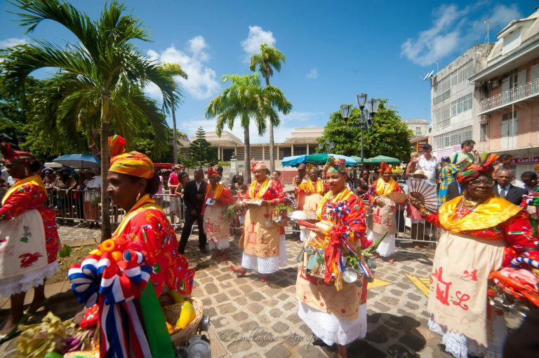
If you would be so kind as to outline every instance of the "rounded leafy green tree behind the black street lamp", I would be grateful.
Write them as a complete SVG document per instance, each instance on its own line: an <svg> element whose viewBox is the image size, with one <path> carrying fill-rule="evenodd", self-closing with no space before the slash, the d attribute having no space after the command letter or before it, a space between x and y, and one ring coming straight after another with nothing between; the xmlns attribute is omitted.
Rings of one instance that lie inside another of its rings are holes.
<svg viewBox="0 0 539 358"><path fill-rule="evenodd" d="M331 113L330 120L324 128L324 135L318 142L324 144L326 139L335 143L333 153L345 156L359 156L361 153L361 128L354 123L359 119L359 108L353 107L347 124L342 120L340 111ZM390 156L400 160L410 158L411 130L401 121L397 110L387 105L387 99L382 99L375 114L371 128L364 130L364 156Z"/></svg>

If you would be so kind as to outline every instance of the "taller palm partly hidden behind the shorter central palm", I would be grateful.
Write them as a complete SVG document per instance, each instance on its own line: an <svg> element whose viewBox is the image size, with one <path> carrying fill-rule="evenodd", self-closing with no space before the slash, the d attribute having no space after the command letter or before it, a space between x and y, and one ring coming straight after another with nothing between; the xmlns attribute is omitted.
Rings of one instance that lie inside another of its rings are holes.
<svg viewBox="0 0 539 358"><path fill-rule="evenodd" d="M258 71L262 74L262 77L266 80L266 87L270 85L270 77L273 76L273 69L276 69L277 72L281 71L281 62L285 62L286 57L284 57L281 51L277 50L272 46L267 46L266 43L260 45L260 53L255 53L251 56L251 64L249 69L255 71L258 67ZM275 158L274 158L274 139L273 139L273 127L278 127L281 121L277 123L270 123L270 170L273 172L275 170Z"/></svg>

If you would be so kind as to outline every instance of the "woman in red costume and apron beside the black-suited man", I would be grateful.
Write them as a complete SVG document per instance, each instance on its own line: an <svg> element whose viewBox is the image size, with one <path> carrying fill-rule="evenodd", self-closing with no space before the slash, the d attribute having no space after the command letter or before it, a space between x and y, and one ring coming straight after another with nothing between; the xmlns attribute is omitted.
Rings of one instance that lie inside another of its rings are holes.
<svg viewBox="0 0 539 358"><path fill-rule="evenodd" d="M204 232L208 237L209 249L216 250L212 255L220 261L228 259L226 250L229 247L230 223L225 219L225 212L234 203L230 189L221 184L221 176L217 170L208 168L210 185L206 187L206 197L202 205Z"/></svg>

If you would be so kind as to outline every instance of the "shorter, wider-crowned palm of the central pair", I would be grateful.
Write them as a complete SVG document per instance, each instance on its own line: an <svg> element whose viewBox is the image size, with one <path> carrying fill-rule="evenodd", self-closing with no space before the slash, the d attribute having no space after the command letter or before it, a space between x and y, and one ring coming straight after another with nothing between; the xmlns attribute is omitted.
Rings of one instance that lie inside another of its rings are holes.
<svg viewBox="0 0 539 358"><path fill-rule="evenodd" d="M279 111L288 113L292 104L279 88L267 85L260 87L258 73L229 74L222 76L223 82L231 82L229 88L225 88L221 95L213 98L206 108L206 118L217 117L215 132L220 136L225 125L232 130L234 120L239 118L241 128L244 129L245 147L245 175L246 182L251 181L251 140L249 138L249 124L255 121L258 135L266 131L265 118L270 118L270 123L279 123Z"/></svg>

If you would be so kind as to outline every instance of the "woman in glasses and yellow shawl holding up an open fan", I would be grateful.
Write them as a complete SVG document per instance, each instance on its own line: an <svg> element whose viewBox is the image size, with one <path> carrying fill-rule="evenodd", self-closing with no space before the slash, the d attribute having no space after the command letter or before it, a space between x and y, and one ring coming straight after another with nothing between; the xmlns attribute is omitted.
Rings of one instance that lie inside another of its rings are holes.
<svg viewBox="0 0 539 358"><path fill-rule="evenodd" d="M507 328L503 313L487 303L488 274L539 249L526 212L493 195L497 158L491 154L461 170L457 180L465 195L441 205L437 214L411 198L427 221L445 230L434 254L427 310L431 331L443 335L454 357L502 356Z"/></svg>

